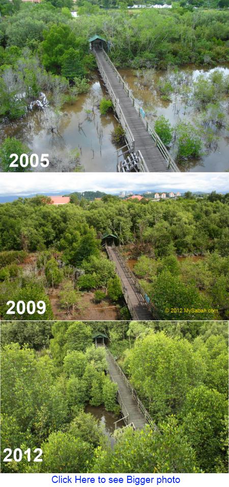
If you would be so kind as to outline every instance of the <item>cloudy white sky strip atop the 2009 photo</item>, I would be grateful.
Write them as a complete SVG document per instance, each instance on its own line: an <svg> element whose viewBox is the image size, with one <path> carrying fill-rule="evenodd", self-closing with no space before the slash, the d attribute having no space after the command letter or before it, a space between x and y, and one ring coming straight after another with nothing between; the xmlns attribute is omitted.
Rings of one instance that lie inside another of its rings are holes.
<svg viewBox="0 0 229 487"><path fill-rule="evenodd" d="M2 173L0 197L99 190L229 192L229 173Z"/></svg>

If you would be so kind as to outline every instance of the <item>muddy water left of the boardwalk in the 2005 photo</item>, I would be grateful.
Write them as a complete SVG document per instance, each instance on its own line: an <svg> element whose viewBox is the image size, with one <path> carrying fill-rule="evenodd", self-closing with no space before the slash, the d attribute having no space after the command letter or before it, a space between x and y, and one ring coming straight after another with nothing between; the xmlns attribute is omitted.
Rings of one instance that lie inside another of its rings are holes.
<svg viewBox="0 0 229 487"><path fill-rule="evenodd" d="M1 130L0 141L6 137L16 137L26 143L33 153L42 153L62 159L62 163L49 164L48 171L73 171L66 154L77 149L80 164L88 172L116 172L117 147L110 140L110 132L117 126L113 114L101 115L98 105L105 95L100 81L95 80L89 93L82 93L74 104L62 108L58 133L51 132L55 115L51 108L46 111L33 111L29 117L17 120L17 123ZM94 106L94 113L88 113ZM37 169L36 169L37 170ZM47 169L39 167L39 171Z"/></svg>

